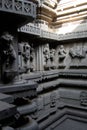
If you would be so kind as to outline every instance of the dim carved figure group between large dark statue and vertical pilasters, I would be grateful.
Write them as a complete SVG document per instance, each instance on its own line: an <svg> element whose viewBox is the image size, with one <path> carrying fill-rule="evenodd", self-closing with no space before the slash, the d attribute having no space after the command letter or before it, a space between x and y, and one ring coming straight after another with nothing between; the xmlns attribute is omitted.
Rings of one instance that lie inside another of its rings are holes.
<svg viewBox="0 0 87 130"><path fill-rule="evenodd" d="M28 42L19 43L19 69L21 73L34 71L34 49Z"/></svg>

